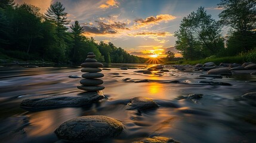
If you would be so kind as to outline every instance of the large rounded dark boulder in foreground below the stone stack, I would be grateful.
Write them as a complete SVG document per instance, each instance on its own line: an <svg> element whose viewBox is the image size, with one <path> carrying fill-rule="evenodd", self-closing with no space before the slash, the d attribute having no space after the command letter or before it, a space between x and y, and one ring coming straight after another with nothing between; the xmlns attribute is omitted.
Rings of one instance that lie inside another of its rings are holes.
<svg viewBox="0 0 256 143"><path fill-rule="evenodd" d="M121 122L106 116L82 116L61 124L55 133L71 142L100 142L115 138L124 129Z"/></svg>

